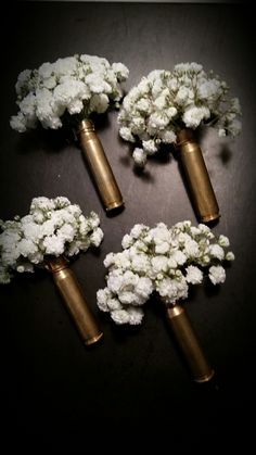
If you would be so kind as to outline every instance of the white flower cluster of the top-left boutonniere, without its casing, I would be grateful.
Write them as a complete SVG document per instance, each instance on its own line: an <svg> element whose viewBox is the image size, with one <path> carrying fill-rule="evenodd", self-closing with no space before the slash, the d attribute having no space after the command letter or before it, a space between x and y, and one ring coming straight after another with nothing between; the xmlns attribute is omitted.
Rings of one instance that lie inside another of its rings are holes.
<svg viewBox="0 0 256 455"><path fill-rule="evenodd" d="M119 106L120 83L129 71L123 63L108 63L97 55L74 55L43 63L38 69L25 69L15 89L20 112L11 127L20 132L35 128L60 128L64 118L88 118Z"/></svg>

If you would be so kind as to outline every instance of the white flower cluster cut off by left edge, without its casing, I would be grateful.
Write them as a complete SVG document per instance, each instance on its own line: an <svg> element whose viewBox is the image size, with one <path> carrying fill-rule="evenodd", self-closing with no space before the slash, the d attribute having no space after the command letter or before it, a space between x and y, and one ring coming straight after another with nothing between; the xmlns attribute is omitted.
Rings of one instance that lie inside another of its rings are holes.
<svg viewBox="0 0 256 455"><path fill-rule="evenodd" d="M46 256L73 256L90 245L99 247L103 231L100 218L91 212L85 217L67 198L35 198L29 214L0 220L0 283L8 283L12 270L34 271Z"/></svg>

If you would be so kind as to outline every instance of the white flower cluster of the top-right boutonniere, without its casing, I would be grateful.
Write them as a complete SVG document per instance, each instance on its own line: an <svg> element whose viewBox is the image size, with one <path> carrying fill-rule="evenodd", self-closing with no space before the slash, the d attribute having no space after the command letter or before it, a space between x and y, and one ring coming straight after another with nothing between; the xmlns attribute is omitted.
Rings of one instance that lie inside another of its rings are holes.
<svg viewBox="0 0 256 455"><path fill-rule="evenodd" d="M197 63L180 63L172 72L155 69L142 77L124 98L118 114L119 135L138 144L137 165L143 167L148 155L162 143L175 143L177 132L202 125L218 129L220 137L241 131L238 98L228 99L229 87L213 72Z"/></svg>

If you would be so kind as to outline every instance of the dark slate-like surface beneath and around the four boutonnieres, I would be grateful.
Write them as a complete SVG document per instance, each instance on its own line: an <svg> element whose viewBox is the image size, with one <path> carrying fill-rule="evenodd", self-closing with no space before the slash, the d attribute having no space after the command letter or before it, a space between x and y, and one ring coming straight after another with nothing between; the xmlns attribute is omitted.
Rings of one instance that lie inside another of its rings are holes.
<svg viewBox="0 0 256 455"><path fill-rule="evenodd" d="M91 349L47 273L0 289L3 453L14 446L34 454L218 453L231 446L247 453L248 413L255 413L254 27L251 9L240 4L20 2L2 14L0 217L25 215L34 197L66 195L85 213L98 212L105 233L99 252L72 263L104 331ZM127 90L152 69L195 61L219 74L241 101L238 139L223 146L215 131L201 139L221 212L213 229L230 238L236 256L220 289L193 290L185 303L216 370L207 384L193 382L157 302L148 303L138 328L116 327L95 304L103 258L120 250L136 223L197 223L176 159L153 157L138 175L118 138L117 113L103 116L98 134L126 203L110 217L80 150L63 131L18 135L9 126L17 74L74 53L125 63Z"/></svg>

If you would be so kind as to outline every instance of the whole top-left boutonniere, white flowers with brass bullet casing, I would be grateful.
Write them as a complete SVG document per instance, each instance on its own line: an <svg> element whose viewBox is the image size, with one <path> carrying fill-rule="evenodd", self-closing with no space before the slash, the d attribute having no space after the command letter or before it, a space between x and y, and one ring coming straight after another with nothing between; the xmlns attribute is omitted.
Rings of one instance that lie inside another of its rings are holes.
<svg viewBox="0 0 256 455"><path fill-rule="evenodd" d="M11 127L20 132L41 125L57 129L71 126L79 140L106 211L123 205L123 197L94 131L91 114L119 108L120 83L129 71L97 55L74 55L25 69L15 85L17 115Z"/></svg>

